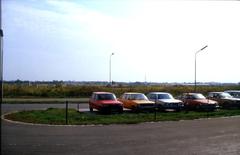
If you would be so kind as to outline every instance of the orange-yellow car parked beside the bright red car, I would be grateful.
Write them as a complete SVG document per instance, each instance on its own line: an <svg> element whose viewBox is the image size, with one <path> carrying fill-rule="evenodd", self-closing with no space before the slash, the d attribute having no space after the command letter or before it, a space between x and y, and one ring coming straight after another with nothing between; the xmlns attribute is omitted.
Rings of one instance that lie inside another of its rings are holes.
<svg viewBox="0 0 240 155"><path fill-rule="evenodd" d="M155 103L149 101L148 98L142 93L124 93L119 101L123 103L124 108L139 110L153 110Z"/></svg>

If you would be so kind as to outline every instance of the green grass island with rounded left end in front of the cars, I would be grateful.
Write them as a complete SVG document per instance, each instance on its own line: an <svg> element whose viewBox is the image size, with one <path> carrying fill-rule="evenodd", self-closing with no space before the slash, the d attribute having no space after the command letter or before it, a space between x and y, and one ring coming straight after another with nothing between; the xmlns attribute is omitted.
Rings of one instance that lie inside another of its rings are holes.
<svg viewBox="0 0 240 155"><path fill-rule="evenodd" d="M102 115L99 113L78 112L75 109L68 110L68 124L90 125L90 124L136 124L150 121L179 121L198 118L212 118L223 116L240 115L240 109L219 110L215 112L157 112L156 120L154 113L131 113ZM8 114L5 118L40 124L65 124L65 109L49 108L47 110L21 111Z"/></svg>

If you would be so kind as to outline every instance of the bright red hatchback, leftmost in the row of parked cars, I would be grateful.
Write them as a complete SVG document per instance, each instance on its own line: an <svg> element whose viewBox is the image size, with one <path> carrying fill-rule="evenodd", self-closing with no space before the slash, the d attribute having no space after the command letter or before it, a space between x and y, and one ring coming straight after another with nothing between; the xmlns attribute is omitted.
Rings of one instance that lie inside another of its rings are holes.
<svg viewBox="0 0 240 155"><path fill-rule="evenodd" d="M113 93L93 92L89 100L90 112L97 109L100 112L123 112L123 104L119 102Z"/></svg>

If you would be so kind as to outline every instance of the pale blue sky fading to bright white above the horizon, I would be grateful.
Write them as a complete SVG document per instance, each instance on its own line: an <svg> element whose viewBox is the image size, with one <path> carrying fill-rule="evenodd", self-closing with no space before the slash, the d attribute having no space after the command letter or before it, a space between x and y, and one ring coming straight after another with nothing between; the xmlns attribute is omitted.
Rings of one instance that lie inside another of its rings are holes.
<svg viewBox="0 0 240 155"><path fill-rule="evenodd" d="M2 0L4 80L240 82L240 3ZM114 55L110 56L111 53Z"/></svg>

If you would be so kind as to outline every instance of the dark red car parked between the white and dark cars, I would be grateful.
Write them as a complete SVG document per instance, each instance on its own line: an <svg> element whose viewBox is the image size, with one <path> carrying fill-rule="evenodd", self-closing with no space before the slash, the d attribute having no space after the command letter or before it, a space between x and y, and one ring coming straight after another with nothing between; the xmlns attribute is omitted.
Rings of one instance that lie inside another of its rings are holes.
<svg viewBox="0 0 240 155"><path fill-rule="evenodd" d="M186 110L214 111L219 107L218 102L206 99L200 93L184 93L180 98Z"/></svg>

